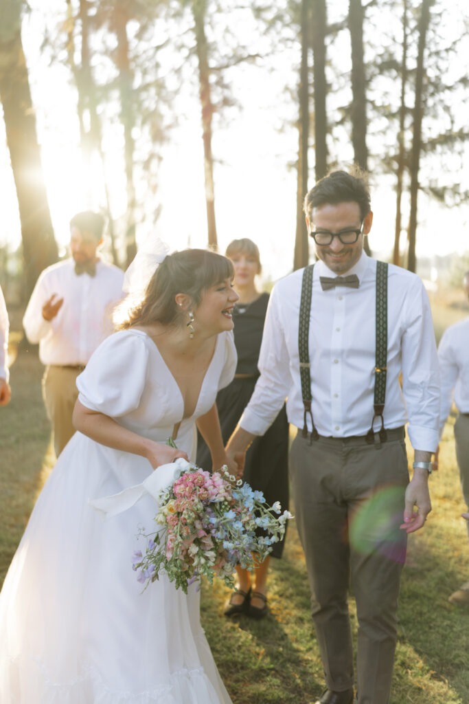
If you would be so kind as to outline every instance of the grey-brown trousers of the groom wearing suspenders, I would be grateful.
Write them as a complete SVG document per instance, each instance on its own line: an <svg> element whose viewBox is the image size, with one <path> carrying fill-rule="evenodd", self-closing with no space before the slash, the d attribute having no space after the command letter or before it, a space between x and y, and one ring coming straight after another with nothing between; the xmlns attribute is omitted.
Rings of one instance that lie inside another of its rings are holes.
<svg viewBox="0 0 469 704"><path fill-rule="evenodd" d="M344 691L354 682L347 603L352 579L359 704L388 704L397 640L407 537L399 524L409 470L404 431L388 431L388 437L379 446L363 438L310 443L299 432L290 451L295 519L326 684Z"/></svg>

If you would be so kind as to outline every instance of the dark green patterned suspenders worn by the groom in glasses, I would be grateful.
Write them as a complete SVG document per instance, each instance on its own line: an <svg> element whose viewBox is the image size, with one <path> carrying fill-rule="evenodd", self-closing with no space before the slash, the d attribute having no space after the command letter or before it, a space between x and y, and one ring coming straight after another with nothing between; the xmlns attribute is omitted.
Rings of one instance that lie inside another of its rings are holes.
<svg viewBox="0 0 469 704"><path fill-rule="evenodd" d="M300 321L298 326L298 350L300 352L300 378L304 405L303 437L307 437L307 416L311 419L310 441L316 440L319 434L314 426L311 412L311 374L309 369L309 318L311 311L311 296L313 292L314 264L304 269L302 277ZM376 343L375 343L375 396L373 401L373 420L366 434L368 443L380 444L386 439L383 412L386 399L386 372L387 372L387 264L376 263ZM375 433L373 423L376 418L381 419L380 430Z"/></svg>

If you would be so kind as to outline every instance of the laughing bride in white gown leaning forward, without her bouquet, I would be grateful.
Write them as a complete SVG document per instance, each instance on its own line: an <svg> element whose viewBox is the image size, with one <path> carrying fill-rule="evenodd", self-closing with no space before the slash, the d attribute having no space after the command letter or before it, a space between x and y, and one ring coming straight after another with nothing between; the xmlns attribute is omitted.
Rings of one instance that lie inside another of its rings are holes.
<svg viewBox="0 0 469 704"><path fill-rule="evenodd" d="M142 591L132 571L154 501L146 496L105 522L89 501L176 458L195 460L196 424L214 467L226 463L214 400L236 367L232 277L229 260L213 252L166 256L78 377L78 432L0 594L2 704L231 703L196 587L186 596L163 576Z"/></svg>

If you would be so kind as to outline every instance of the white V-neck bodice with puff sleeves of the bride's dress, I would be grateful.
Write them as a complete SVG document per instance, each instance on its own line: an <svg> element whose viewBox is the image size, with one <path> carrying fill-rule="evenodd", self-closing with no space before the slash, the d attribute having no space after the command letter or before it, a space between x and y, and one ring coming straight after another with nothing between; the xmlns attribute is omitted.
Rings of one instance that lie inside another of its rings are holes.
<svg viewBox="0 0 469 704"><path fill-rule="evenodd" d="M180 423L177 445L195 459L195 420L210 410L219 389L231 381L235 367L233 334L223 332L217 338L193 415L184 418L181 389L158 346L143 330L121 330L103 342L78 377L79 400L157 441L172 436L174 426Z"/></svg>

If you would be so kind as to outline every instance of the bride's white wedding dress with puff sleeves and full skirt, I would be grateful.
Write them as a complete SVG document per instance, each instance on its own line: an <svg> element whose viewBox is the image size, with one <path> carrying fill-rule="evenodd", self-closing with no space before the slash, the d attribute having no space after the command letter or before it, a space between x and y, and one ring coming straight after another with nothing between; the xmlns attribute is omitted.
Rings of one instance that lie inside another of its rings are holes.
<svg viewBox="0 0 469 704"><path fill-rule="evenodd" d="M195 460L195 417L236 366L217 339L193 417L176 444ZM158 441L184 410L174 377L144 332L117 332L77 379L87 408ZM155 470L158 472L158 469ZM76 433L51 472L0 594L1 704L230 704L199 620L199 593L166 577L145 591L132 570L153 530L150 496L103 522L89 500L143 482L148 460Z"/></svg>

